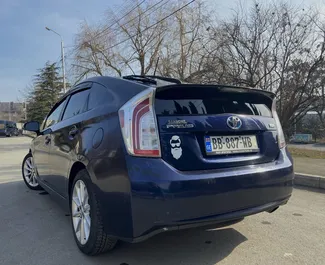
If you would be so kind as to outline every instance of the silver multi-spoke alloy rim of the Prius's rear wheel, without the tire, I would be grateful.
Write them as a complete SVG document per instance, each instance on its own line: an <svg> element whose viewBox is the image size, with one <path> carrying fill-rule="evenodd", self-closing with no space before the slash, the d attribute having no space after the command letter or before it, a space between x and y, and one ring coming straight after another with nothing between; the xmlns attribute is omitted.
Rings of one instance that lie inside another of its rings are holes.
<svg viewBox="0 0 325 265"><path fill-rule="evenodd" d="M88 190L82 180L78 180L73 187L71 210L75 235L84 245L89 239L91 216Z"/></svg>

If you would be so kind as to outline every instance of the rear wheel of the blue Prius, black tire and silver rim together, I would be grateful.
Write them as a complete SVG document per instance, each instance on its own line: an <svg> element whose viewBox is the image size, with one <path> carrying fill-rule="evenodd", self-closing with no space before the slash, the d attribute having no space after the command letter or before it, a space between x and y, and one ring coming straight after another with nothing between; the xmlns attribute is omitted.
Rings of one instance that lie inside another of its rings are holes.
<svg viewBox="0 0 325 265"><path fill-rule="evenodd" d="M78 188L83 191L83 196L80 197L85 198L83 199L84 202L81 203L82 207L78 207L78 202L80 201L77 196ZM88 196L86 195L87 193ZM70 216L73 236L81 252L89 256L95 256L115 247L117 239L110 237L104 231L99 201L89 174L85 169L77 173L71 187ZM83 234L81 233L82 229L84 229Z"/></svg>

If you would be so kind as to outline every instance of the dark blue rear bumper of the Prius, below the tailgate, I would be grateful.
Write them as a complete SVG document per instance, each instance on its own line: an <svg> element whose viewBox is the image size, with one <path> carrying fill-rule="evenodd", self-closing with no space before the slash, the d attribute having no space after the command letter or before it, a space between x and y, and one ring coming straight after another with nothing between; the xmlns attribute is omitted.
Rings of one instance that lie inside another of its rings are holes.
<svg viewBox="0 0 325 265"><path fill-rule="evenodd" d="M180 172L161 159L128 157L131 242L162 231L216 224L285 204L293 165L286 150L271 163Z"/></svg>

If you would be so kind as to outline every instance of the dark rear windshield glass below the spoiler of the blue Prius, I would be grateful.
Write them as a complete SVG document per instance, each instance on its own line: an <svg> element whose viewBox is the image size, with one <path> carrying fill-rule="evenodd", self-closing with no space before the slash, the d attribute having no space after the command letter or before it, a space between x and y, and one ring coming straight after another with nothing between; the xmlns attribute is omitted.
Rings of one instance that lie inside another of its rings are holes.
<svg viewBox="0 0 325 265"><path fill-rule="evenodd" d="M272 117L271 100L252 93L208 93L198 89L196 93L177 89L174 93L157 93L155 109L157 115L216 115L233 113ZM195 94L195 95L193 95Z"/></svg>

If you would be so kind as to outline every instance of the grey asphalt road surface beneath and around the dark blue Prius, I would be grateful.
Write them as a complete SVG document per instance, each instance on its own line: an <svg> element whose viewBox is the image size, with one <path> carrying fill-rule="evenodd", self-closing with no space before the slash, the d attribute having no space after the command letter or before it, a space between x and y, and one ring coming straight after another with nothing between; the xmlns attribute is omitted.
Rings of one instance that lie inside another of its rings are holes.
<svg viewBox="0 0 325 265"><path fill-rule="evenodd" d="M299 189L272 214L221 229L159 234L87 257L75 245L69 217L49 195L22 182L29 142L0 138L0 264L325 264L325 194Z"/></svg>

